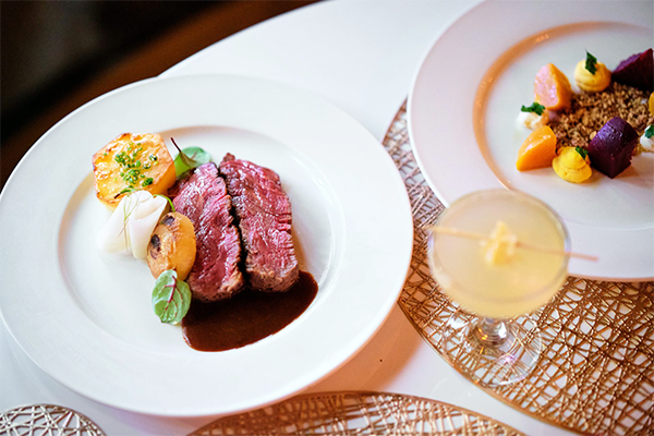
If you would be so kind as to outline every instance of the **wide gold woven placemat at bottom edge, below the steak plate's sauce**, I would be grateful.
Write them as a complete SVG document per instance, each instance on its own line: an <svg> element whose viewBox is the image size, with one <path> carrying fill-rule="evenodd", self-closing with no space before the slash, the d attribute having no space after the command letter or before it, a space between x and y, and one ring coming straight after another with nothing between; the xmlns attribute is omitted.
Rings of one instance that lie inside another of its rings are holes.
<svg viewBox="0 0 654 436"><path fill-rule="evenodd" d="M324 392L221 417L191 435L519 436L522 433L479 413L425 398Z"/></svg>

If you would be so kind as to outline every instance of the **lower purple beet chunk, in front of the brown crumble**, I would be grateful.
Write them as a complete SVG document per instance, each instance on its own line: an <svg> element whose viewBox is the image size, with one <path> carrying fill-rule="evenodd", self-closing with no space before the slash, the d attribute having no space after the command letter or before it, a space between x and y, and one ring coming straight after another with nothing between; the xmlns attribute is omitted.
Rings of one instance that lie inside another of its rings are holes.
<svg viewBox="0 0 654 436"><path fill-rule="evenodd" d="M631 165L638 144L638 133L619 117L614 117L600 129L589 144L591 165L609 178L615 178Z"/></svg>

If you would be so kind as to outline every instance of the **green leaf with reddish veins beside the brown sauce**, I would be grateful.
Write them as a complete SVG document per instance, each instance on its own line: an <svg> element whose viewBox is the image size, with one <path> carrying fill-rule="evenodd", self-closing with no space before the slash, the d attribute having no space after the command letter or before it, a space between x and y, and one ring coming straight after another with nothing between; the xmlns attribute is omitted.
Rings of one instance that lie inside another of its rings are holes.
<svg viewBox="0 0 654 436"><path fill-rule="evenodd" d="M189 284L178 280L173 269L159 275L153 289L153 310L161 323L177 324L191 307L191 290Z"/></svg>

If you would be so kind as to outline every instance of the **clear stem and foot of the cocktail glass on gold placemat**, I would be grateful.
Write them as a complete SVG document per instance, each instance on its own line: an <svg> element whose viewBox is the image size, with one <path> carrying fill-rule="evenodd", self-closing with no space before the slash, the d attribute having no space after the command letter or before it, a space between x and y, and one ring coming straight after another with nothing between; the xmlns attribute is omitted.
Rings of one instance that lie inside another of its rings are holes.
<svg viewBox="0 0 654 436"><path fill-rule="evenodd" d="M443 355L477 385L497 387L525 378L538 362L543 339L536 319L481 318L457 311L440 339Z"/></svg>

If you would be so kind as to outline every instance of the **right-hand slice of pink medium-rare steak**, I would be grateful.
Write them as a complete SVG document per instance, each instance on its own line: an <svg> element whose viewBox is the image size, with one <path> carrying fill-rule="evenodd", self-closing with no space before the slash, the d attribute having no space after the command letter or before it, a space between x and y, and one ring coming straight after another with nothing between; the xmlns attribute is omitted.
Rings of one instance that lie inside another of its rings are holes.
<svg viewBox="0 0 654 436"><path fill-rule="evenodd" d="M299 277L291 238L291 202L279 175L268 168L227 154L220 173L241 229L245 275L261 291L287 291Z"/></svg>

